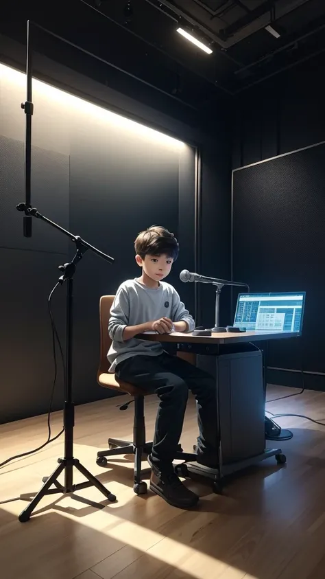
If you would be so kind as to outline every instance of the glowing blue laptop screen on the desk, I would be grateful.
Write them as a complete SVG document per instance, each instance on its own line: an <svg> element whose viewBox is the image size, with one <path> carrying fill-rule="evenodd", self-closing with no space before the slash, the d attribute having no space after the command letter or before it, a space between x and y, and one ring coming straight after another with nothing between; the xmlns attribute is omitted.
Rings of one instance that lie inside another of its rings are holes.
<svg viewBox="0 0 325 579"><path fill-rule="evenodd" d="M306 293L240 293L234 326L248 331L302 331Z"/></svg>

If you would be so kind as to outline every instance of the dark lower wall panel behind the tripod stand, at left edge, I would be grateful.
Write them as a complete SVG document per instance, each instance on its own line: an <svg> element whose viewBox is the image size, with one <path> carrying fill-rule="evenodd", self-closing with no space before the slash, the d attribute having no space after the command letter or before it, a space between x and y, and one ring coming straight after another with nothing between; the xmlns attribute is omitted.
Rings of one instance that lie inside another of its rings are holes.
<svg viewBox="0 0 325 579"><path fill-rule="evenodd" d="M0 249L0 423L46 412L54 365L47 297L66 256L40 251ZM53 314L64 347L66 287L53 296ZM53 409L62 407L62 363Z"/></svg>

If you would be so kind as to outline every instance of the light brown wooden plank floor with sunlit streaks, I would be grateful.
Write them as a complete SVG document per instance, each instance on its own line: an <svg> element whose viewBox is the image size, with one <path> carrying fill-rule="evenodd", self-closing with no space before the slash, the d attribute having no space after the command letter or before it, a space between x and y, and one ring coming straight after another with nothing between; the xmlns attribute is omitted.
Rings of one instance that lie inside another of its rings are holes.
<svg viewBox="0 0 325 579"><path fill-rule="evenodd" d="M269 387L267 394L274 398L287 391ZM107 468L96 465L96 451L106 448L108 435L132 434L132 409L121 412L116 406L117 398L77 407L75 456L117 495L117 502L103 501L100 510L58 495L56 502L44 499L28 523L17 519L26 501L1 503L1 579L325 578L325 427L300 418L279 419L293 431L293 439L282 444L286 466L269 459L230 481L222 497L205 482L186 481L202 499L195 510L182 512L150 492L136 497L130 460L121 457ZM308 391L267 407L324 419L325 393ZM148 437L155 413L156 399L149 398ZM53 415L54 433L61 421L60 413ZM44 417L0 426L0 462L34 448L45 434ZM196 435L190 400L185 449L191 449ZM0 501L36 492L60 455L59 439L2 468ZM97 502L102 498L93 488L80 495Z"/></svg>

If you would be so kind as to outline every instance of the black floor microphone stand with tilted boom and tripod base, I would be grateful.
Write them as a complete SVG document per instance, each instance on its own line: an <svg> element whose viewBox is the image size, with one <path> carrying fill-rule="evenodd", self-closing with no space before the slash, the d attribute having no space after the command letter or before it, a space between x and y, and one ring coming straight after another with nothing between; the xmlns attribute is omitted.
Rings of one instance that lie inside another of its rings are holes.
<svg viewBox="0 0 325 579"><path fill-rule="evenodd" d="M59 277L59 282L61 285L64 282L67 282L67 356L66 356L66 365L65 365L65 379L64 379L64 408L63 408L63 424L64 424L64 458L59 458L58 463L59 465L56 467L56 470L51 474L50 477L43 478L43 487L40 491L35 495L34 499L29 503L29 505L21 512L19 515L19 521L21 523L25 523L25 521L29 520L30 515L32 514L34 508L38 505L41 499L45 497L45 495L53 495L59 492L62 492L63 495L67 495L71 492L75 492L75 490L81 490L82 488L87 488L88 486L95 486L98 490L102 492L102 494L107 497L109 501L115 501L115 495L112 495L110 490L106 488L101 482L99 482L94 475L92 475L89 470L87 470L83 464L79 462L77 458L73 456L73 427L75 425L75 407L72 398L72 383L73 383L73 370L72 370L72 361L73 361L73 275L75 273L75 269L77 263L82 260L84 253L87 249L91 249L97 256L105 259L109 263L114 261L113 258L107 256L106 253L102 253L99 249L93 247L86 241L84 241L79 236L75 236L57 225L44 215L40 214L37 209L26 207L26 203L19 203L16 207L18 211L27 212L27 215L32 217L36 217L45 221L52 227L55 227L59 231L61 231L64 235L68 236L71 241L75 243L75 247L77 249L74 258L71 262L66 263L64 265L59 265L58 269L62 271L62 275ZM88 479L86 482L82 482L79 484L73 484L73 467L77 468L77 470ZM60 474L64 472L64 484L60 484L58 482L58 477ZM51 485L54 485L56 488L50 488ZM77 498L77 497L73 497Z"/></svg>

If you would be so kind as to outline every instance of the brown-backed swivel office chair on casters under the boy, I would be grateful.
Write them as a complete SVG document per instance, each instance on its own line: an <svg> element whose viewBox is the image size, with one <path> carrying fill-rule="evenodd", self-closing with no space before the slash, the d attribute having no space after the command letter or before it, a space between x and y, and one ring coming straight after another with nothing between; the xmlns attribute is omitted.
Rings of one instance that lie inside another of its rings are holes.
<svg viewBox="0 0 325 579"><path fill-rule="evenodd" d="M133 490L136 495L145 495L147 492L147 484L141 480L141 462L143 455L149 455L152 451L152 442L146 442L145 440L145 396L152 393L147 393L145 390L132 384L120 380L117 381L115 374L108 372L109 363L107 353L112 342L108 335L108 320L114 297L114 295L103 295L99 300L100 362L97 372L97 382L104 388L111 388L120 393L130 394L130 396L134 398L133 441L108 438L108 450L97 452L96 462L99 466L106 466L107 457L134 454ZM130 402L121 405L120 409L127 409L129 404ZM184 453L179 444L175 459L180 459L184 462L195 461L196 455ZM181 468L178 468L178 473L181 472Z"/></svg>

